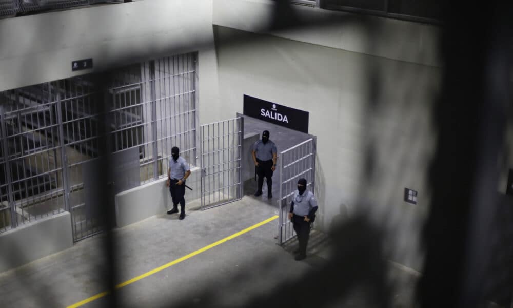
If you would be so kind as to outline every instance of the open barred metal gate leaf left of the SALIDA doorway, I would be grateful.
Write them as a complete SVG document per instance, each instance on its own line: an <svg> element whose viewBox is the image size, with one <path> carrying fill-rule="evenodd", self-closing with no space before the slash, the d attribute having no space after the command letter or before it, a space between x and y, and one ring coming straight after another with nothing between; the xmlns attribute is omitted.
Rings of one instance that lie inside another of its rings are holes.
<svg viewBox="0 0 513 308"><path fill-rule="evenodd" d="M244 119L202 125L201 209L242 198Z"/></svg>

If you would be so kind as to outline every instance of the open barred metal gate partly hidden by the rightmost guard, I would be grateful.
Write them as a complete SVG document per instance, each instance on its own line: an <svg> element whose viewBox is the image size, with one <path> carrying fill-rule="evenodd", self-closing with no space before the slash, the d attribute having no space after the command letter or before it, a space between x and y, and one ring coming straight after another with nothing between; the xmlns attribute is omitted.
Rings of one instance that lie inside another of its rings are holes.
<svg viewBox="0 0 513 308"><path fill-rule="evenodd" d="M305 178L307 189L315 188L315 140L310 138L298 145L280 152L280 198L278 199L278 244L295 237L292 222L288 219L290 202L297 189L298 180Z"/></svg>

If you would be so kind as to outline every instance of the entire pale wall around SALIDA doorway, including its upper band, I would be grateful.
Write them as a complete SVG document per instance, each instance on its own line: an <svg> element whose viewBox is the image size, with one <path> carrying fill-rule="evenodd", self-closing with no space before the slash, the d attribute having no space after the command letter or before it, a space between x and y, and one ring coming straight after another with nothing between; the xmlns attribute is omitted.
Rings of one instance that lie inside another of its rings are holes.
<svg viewBox="0 0 513 308"><path fill-rule="evenodd" d="M329 230L366 211L390 230L391 258L420 269L436 138L431 108L442 74L439 29L372 17L369 32L355 15L298 6L307 19L337 15L343 23L264 34L272 5L214 0L218 108L242 113L248 94L308 111L309 133L318 138L317 227ZM231 44L233 37L247 41ZM403 202L405 187L419 191L417 205Z"/></svg>

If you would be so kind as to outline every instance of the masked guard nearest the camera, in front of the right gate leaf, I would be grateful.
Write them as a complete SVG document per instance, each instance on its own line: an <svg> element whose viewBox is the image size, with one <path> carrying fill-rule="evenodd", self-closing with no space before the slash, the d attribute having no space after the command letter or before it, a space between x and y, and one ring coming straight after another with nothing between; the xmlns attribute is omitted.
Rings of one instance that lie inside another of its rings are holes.
<svg viewBox="0 0 513 308"><path fill-rule="evenodd" d="M306 190L306 179L298 181L298 190L294 191L292 203L290 204L289 219L292 221L295 234L298 235L299 249L296 260L306 258L306 246L310 237L310 227L315 220L317 211L317 200L313 192Z"/></svg>

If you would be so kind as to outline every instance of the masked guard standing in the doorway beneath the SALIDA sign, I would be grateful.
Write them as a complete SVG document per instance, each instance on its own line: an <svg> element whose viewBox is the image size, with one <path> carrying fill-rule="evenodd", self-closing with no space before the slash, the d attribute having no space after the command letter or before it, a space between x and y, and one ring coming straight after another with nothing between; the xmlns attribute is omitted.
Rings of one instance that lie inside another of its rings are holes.
<svg viewBox="0 0 513 308"><path fill-rule="evenodd" d="M267 198L272 198L272 172L276 170L277 152L276 145L269 140L269 131L264 130L262 139L255 142L251 152L258 174L258 189L255 192L255 197L262 195L265 177L267 179Z"/></svg>

